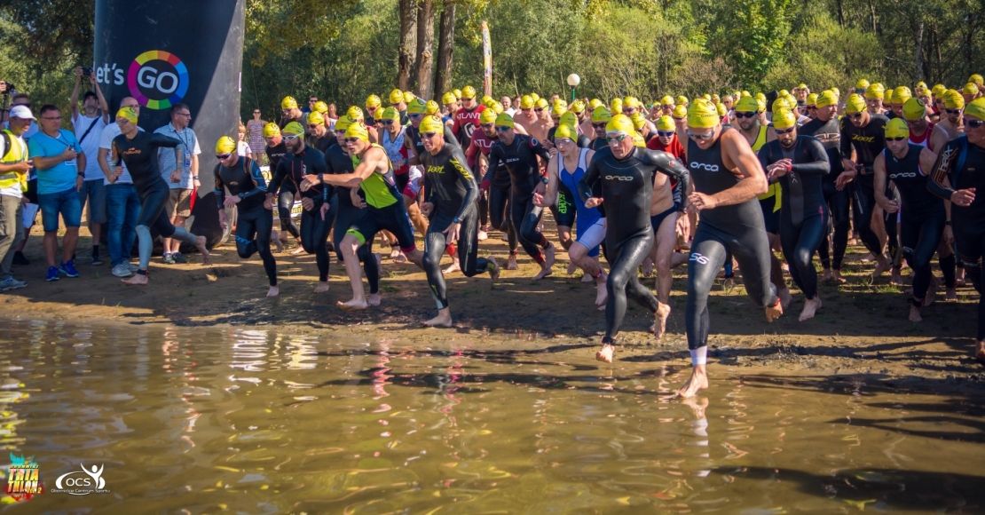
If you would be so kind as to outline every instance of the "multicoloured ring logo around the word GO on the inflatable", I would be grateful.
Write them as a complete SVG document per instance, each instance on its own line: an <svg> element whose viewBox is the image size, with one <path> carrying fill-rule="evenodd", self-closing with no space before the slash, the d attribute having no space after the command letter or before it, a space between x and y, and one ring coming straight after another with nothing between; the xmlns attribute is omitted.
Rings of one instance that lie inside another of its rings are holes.
<svg viewBox="0 0 985 515"><path fill-rule="evenodd" d="M188 68L170 52L148 50L130 63L126 84L141 105L166 109L188 93Z"/></svg>

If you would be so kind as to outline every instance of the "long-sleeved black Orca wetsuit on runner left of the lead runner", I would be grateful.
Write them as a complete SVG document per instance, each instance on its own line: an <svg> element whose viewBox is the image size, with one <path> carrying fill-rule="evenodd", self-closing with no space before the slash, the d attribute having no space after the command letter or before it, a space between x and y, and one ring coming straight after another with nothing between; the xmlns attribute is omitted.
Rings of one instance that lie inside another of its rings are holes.
<svg viewBox="0 0 985 515"><path fill-rule="evenodd" d="M639 283L636 269L653 245L650 202L658 171L676 179L680 191L688 190L688 169L680 161L666 152L637 147L622 160L608 147L598 151L578 183L581 202L595 196L598 185L606 207L606 251L612 270L606 283L605 343L615 342L623 324L626 294L650 313L657 311L657 298Z"/></svg>

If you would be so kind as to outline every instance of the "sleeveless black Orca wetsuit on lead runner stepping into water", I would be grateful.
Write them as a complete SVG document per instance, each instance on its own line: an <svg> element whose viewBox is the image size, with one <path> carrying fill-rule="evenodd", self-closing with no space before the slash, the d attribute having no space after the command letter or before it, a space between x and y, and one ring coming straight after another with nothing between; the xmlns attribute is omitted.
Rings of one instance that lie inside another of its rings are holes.
<svg viewBox="0 0 985 515"><path fill-rule="evenodd" d="M728 130L734 129L724 128L722 133ZM725 167L721 145L719 137L711 148L701 150L688 140L688 168L694 191L713 195L741 180L740 175ZM708 345L708 294L725 263L726 251L739 261L747 294L755 304L766 307L776 302L776 290L769 281L769 239L759 201L753 197L741 204L701 211L688 263L685 318L691 350Z"/></svg>

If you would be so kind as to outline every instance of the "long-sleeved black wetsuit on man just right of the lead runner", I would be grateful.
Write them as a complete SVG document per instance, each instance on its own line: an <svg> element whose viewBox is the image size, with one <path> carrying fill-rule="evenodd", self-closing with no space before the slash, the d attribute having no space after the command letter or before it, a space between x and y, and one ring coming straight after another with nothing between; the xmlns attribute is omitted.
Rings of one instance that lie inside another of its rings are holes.
<svg viewBox="0 0 985 515"><path fill-rule="evenodd" d="M784 148L779 140L759 149L759 163L767 165L783 159L793 161L793 169L779 178L780 245L790 264L790 276L809 299L818 296L818 272L811 263L827 227L827 210L822 181L830 170L827 153L813 136L797 136L794 146Z"/></svg>

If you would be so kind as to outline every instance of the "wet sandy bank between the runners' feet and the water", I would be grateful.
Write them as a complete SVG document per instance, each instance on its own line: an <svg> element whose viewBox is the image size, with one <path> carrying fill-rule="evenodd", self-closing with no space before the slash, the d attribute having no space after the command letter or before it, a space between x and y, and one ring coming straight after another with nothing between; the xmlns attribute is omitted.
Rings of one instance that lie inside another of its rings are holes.
<svg viewBox="0 0 985 515"><path fill-rule="evenodd" d="M546 225L549 237L555 235L553 225ZM88 324L276 326L279 332L297 335L356 335L367 341L399 337L422 346L466 337L481 339L490 350L512 349L523 342L523 347L582 346L580 352L586 355L595 353L604 330L604 313L593 305L594 286L579 281L580 271L574 276L564 273L563 252L558 252L554 275L537 283L529 278L538 267L522 252L519 270L503 271L492 289L487 275L447 276L455 327L427 329L420 322L433 316L434 309L425 275L412 264L393 263L386 256L388 249L382 250L383 304L345 312L335 302L349 299L350 290L334 255L331 290L316 294L314 256L291 255L292 246L276 254L281 296L268 299L259 257L240 260L229 243L214 250L209 266L201 265L196 254L189 255L186 265L164 265L155 257L151 286L143 288L121 284L110 275L108 263L99 267L87 263L90 239L85 228L79 248L82 277L45 283L35 227L27 250L32 264L15 267L17 277L28 281L29 287L0 295L3 317ZM849 249L844 271L848 283L821 284L824 305L817 318L804 323L797 321L803 295L795 288L787 314L767 324L761 310L745 296L741 271L731 290L724 290L719 281L709 303L712 381L719 373L780 373L836 376L890 389L985 392L985 367L971 357L977 293L970 286L959 288L956 302L939 301L924 309L922 323L910 323L901 288L888 285L887 276L874 285L865 279L872 265L860 262L862 252L858 247ZM480 256L487 255L505 261L500 233L493 232L480 243ZM448 262L445 257L443 264ZM646 332L650 317L630 302L617 359L686 368L686 274L684 267L675 271L674 311L662 341ZM905 268L903 275L908 284ZM644 284L655 288L653 279Z"/></svg>

